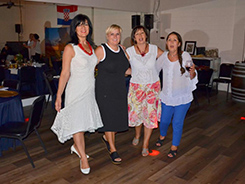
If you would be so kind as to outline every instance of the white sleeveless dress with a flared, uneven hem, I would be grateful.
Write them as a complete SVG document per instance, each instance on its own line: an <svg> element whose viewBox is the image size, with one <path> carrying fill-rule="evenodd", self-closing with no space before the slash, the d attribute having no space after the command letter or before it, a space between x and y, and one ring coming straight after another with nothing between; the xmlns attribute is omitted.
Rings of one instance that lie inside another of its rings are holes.
<svg viewBox="0 0 245 184"><path fill-rule="evenodd" d="M103 127L95 100L94 68L97 58L73 45L75 56L70 66L70 78L65 90L65 107L57 113L51 130L61 143L78 132L94 132Z"/></svg>

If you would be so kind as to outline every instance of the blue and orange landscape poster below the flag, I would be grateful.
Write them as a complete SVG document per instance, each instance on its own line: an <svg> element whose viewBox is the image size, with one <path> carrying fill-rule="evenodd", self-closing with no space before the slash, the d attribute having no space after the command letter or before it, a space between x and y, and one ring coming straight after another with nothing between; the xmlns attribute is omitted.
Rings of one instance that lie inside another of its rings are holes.
<svg viewBox="0 0 245 184"><path fill-rule="evenodd" d="M70 41L70 28L45 28L45 53L47 57L61 60L66 44Z"/></svg>

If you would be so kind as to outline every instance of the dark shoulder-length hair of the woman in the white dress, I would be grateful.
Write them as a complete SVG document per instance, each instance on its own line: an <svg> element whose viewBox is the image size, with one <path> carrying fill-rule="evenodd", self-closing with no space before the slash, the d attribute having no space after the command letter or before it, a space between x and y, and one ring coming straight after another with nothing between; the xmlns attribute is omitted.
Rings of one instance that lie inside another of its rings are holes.
<svg viewBox="0 0 245 184"><path fill-rule="evenodd" d="M88 26L89 26L89 34L87 35L86 40L89 42L89 44L93 48L95 48L96 45L94 44L94 41L92 39L92 34L93 34L92 23L91 23L90 19L88 18L88 16L87 15L83 15L83 14L78 14L71 21L71 25L70 25L71 42L70 43L74 43L75 45L78 45L79 39L77 37L76 28L81 22L85 22L86 20L88 21Z"/></svg>

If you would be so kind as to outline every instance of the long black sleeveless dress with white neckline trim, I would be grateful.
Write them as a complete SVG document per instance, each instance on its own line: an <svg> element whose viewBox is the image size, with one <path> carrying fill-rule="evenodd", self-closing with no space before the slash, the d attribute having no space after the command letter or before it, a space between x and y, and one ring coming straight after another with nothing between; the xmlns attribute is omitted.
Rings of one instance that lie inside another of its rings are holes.
<svg viewBox="0 0 245 184"><path fill-rule="evenodd" d="M128 59L121 47L113 52L107 44L105 59L97 65L95 96L104 127L99 132L121 132L128 130L128 102L125 72L129 67Z"/></svg>

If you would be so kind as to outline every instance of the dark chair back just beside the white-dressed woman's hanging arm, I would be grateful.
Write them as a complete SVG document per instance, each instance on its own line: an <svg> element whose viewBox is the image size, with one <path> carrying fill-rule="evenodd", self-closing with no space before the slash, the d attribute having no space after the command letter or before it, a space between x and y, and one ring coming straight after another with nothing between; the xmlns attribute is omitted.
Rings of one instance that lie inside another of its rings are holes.
<svg viewBox="0 0 245 184"><path fill-rule="evenodd" d="M48 87L50 95L55 95L57 93L57 87L54 82L54 76L56 71L54 69L46 70L43 72L45 83Z"/></svg>

